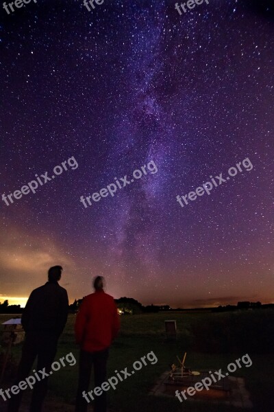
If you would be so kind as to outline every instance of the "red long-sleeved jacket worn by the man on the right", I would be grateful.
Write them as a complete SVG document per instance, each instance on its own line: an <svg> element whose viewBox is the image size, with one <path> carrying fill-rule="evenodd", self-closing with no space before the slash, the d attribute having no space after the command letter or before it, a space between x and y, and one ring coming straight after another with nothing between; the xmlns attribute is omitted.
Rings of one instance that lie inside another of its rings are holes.
<svg viewBox="0 0 274 412"><path fill-rule="evenodd" d="M75 322L76 343L86 352L109 347L120 329L120 320L112 296L103 290L84 297Z"/></svg>

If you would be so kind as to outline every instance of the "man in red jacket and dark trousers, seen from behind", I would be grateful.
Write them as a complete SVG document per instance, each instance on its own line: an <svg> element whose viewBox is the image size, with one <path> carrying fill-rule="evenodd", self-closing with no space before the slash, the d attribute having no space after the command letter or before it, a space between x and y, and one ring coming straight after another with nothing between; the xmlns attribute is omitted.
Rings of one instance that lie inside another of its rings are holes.
<svg viewBox="0 0 274 412"><path fill-rule="evenodd" d="M75 412L86 412L92 364L94 365L95 387L106 379L108 348L120 328L119 314L112 296L103 291L104 279L95 277L95 293L84 298L75 322L75 340L80 345L79 380ZM95 396L95 412L106 412L106 393Z"/></svg>

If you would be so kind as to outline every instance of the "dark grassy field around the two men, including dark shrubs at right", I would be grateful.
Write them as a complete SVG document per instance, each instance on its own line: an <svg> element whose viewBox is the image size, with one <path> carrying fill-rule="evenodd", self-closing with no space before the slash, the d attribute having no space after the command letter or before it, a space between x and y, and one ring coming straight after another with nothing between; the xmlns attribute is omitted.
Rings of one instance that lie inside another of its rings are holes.
<svg viewBox="0 0 274 412"><path fill-rule="evenodd" d="M1 323L11 315L1 315ZM178 328L178 341L164 341L164 320L175 319ZM55 360L73 352L78 356L74 344L73 324L75 315L69 316L66 329L61 336L58 354ZM177 363L176 355L182 358L187 352L186 366L192 370L226 370L229 363L249 354L251 367L237 369L233 376L242 376L251 393L254 411L271 412L274 410L273 391L273 310L258 310L236 313L211 312L172 312L160 314L140 314L121 317L121 332L110 350L108 377L115 376L115 369L120 371L128 367L132 371L135 361L153 351L158 363L143 366L133 376L119 382L114 391L108 391L108 404L113 412L177 412L177 411L242 411L234 407L214 405L208 402L184 401L177 398L156 397L149 395L149 389L155 380L171 363ZM13 347L14 361L18 361L21 345ZM2 388L12 385L11 377L6 376ZM77 386L77 363L75 366L61 367L49 380L49 393L45 404L47 411L73 411L73 402ZM24 401L29 399L26 391ZM2 405L4 402L1 403ZM5 411L1 407L1 411ZM92 409L90 408L90 411ZM22 411L27 411L23 409Z"/></svg>

